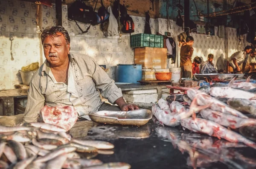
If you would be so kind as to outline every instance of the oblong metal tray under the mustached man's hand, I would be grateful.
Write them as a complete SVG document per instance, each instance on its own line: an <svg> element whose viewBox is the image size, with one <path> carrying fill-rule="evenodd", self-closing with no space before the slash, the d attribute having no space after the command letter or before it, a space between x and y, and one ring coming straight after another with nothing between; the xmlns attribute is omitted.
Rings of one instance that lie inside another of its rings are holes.
<svg viewBox="0 0 256 169"><path fill-rule="evenodd" d="M147 109L132 110L132 111L99 111L90 113L92 121L103 124L121 124L121 125L136 125L142 126L146 124L153 113Z"/></svg>

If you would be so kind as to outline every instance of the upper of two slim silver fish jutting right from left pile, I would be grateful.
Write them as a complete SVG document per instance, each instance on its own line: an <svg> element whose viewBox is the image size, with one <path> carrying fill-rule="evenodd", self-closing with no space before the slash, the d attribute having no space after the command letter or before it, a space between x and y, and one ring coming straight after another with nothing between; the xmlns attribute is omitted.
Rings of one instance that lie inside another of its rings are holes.
<svg viewBox="0 0 256 169"><path fill-rule="evenodd" d="M113 149L114 148L114 145L107 141L78 140L78 139L72 138L71 142L81 144L84 146L92 146L97 149Z"/></svg>

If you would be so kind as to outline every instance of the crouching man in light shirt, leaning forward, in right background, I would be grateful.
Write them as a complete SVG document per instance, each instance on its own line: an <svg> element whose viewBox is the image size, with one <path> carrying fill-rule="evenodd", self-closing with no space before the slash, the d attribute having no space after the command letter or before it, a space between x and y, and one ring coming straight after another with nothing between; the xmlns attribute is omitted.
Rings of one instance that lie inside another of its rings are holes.
<svg viewBox="0 0 256 169"><path fill-rule="evenodd" d="M251 50L252 50L251 46L246 46L244 48L244 51L238 51L233 55L231 55L230 58L228 58L228 62L227 62L228 72L234 72L234 71L244 72L244 68L246 66L246 62L248 59L247 54L250 54ZM242 64L242 70L240 69L241 64Z"/></svg>

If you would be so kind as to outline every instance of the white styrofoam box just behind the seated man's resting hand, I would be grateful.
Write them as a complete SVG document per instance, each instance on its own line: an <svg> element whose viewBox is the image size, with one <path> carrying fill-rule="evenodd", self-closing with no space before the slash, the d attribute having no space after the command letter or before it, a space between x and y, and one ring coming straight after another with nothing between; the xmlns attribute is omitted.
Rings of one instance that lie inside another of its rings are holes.
<svg viewBox="0 0 256 169"><path fill-rule="evenodd" d="M123 97L126 102L141 102L141 103L151 103L157 101L157 93L147 93L147 94L123 94Z"/></svg>

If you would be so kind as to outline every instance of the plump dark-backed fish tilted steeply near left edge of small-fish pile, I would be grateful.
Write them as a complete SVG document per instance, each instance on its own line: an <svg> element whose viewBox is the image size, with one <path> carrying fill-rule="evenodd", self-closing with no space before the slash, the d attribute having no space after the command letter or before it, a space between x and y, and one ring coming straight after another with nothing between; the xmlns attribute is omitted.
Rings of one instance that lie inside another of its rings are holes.
<svg viewBox="0 0 256 169"><path fill-rule="evenodd" d="M17 159L24 160L28 158L28 155L26 153L26 149L20 142L9 140L7 144L11 147L15 155L17 156Z"/></svg>

